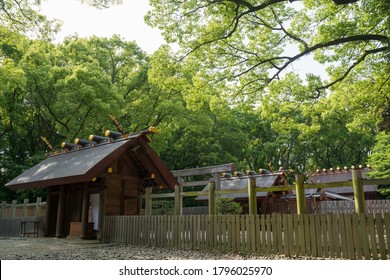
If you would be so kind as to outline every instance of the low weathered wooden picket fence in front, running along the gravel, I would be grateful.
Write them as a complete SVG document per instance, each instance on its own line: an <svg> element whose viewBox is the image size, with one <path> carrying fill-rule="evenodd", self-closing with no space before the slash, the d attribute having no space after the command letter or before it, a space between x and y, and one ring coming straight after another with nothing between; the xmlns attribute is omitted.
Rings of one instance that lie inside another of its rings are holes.
<svg viewBox="0 0 390 280"><path fill-rule="evenodd" d="M103 240L175 249L390 259L390 214L107 216Z"/></svg>

